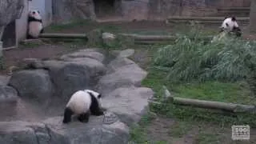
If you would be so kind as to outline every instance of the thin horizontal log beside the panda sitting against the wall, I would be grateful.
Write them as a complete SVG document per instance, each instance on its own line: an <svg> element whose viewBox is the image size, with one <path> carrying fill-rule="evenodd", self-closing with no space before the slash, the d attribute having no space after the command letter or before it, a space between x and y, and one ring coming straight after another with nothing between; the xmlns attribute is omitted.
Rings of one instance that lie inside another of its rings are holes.
<svg viewBox="0 0 256 144"><path fill-rule="evenodd" d="M86 34L40 34L39 38L87 38Z"/></svg>

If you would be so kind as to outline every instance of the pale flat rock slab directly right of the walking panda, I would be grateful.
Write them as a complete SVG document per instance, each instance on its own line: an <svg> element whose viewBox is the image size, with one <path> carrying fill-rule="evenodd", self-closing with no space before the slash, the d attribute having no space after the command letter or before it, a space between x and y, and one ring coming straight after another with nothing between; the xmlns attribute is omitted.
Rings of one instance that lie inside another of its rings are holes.
<svg viewBox="0 0 256 144"><path fill-rule="evenodd" d="M122 122L131 126L146 114L148 99L154 91L146 87L118 88L102 99L103 106L117 114Z"/></svg>

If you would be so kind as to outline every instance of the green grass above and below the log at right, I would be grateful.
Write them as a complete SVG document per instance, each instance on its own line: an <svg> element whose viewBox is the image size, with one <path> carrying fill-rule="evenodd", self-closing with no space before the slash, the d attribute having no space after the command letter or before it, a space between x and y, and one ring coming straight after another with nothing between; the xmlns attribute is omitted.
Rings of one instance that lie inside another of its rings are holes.
<svg viewBox="0 0 256 144"><path fill-rule="evenodd" d="M212 100L218 102L234 102L242 104L255 104L255 98L250 97L250 90L243 84L236 82L192 82L174 84L168 81L166 73L161 70L149 70L149 74L142 81L143 86L152 88L156 94L156 98L162 98L162 86L166 86L174 92L175 96L182 98L198 98L204 100ZM167 115L170 118L190 119L191 121L214 122L221 125L230 126L234 123L250 123L256 126L254 122L255 115L238 114L223 115L216 113L214 110L205 110L200 108L192 108L190 106L176 106L171 103L162 106L151 105L151 110Z"/></svg>

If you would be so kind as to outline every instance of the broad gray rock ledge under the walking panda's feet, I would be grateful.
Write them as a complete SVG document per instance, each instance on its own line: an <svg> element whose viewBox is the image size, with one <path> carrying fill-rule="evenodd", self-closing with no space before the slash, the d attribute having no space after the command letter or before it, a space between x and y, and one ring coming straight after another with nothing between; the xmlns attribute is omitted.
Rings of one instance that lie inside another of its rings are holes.
<svg viewBox="0 0 256 144"><path fill-rule="evenodd" d="M90 117L90 124L73 122L70 125L63 125L61 117L43 122L0 122L0 143L126 144L128 127L119 121L104 122L105 118Z"/></svg>

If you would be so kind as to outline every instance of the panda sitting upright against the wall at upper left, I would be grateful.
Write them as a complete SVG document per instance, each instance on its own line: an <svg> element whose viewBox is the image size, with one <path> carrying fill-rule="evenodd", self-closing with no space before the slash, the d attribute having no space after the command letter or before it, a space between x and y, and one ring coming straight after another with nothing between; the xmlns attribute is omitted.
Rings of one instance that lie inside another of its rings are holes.
<svg viewBox="0 0 256 144"><path fill-rule="evenodd" d="M28 17L28 34L27 38L38 38L43 33L42 17L38 10L30 10Z"/></svg>

